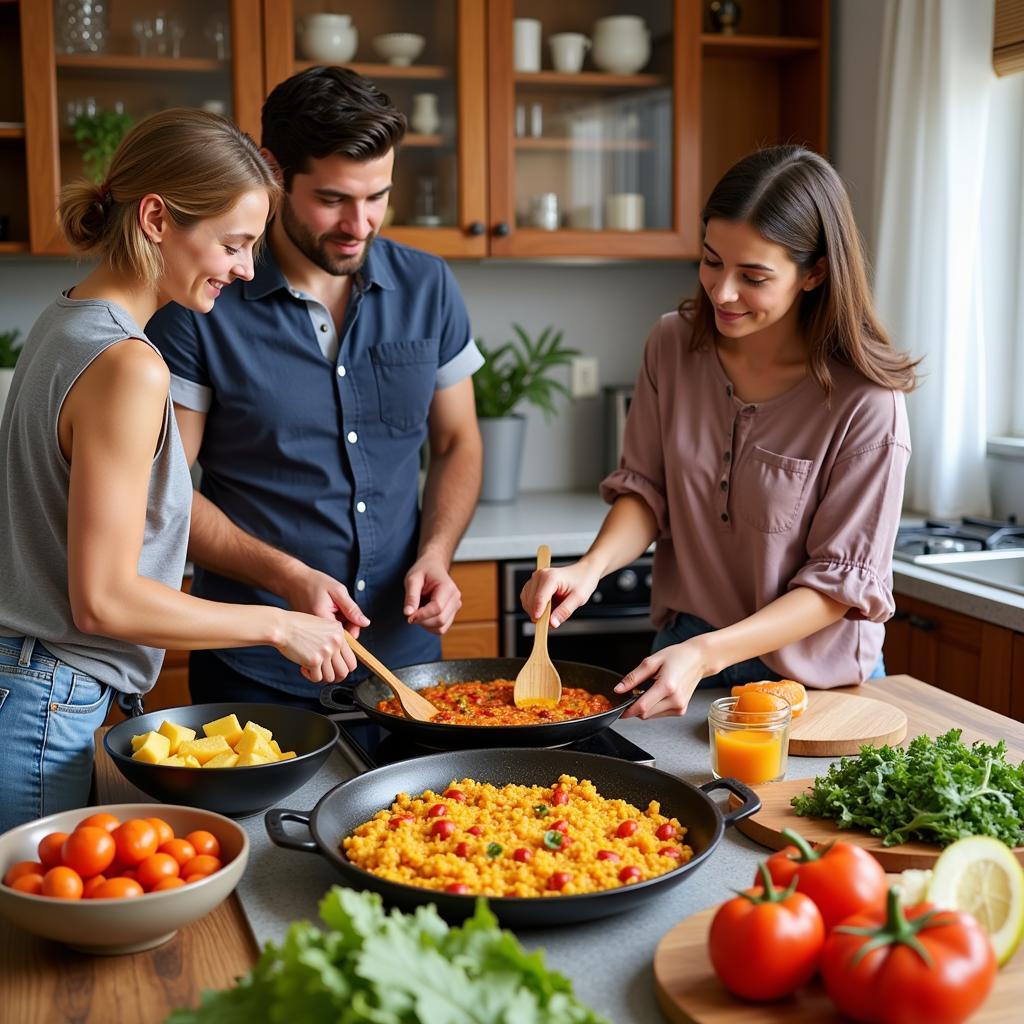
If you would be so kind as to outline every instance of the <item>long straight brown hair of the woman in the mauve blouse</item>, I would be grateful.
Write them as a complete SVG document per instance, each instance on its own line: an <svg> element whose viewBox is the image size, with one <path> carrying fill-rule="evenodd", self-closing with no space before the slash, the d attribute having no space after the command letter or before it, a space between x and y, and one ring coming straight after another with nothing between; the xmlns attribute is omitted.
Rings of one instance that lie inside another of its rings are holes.
<svg viewBox="0 0 1024 1024"><path fill-rule="evenodd" d="M713 217L750 224L805 272L824 257L824 281L798 301L809 370L826 394L831 358L883 387L913 390L920 360L897 351L879 323L850 200L828 161L799 145L753 153L715 185L700 217L705 227ZM715 342L715 308L703 288L679 312L693 324L693 348Z"/></svg>

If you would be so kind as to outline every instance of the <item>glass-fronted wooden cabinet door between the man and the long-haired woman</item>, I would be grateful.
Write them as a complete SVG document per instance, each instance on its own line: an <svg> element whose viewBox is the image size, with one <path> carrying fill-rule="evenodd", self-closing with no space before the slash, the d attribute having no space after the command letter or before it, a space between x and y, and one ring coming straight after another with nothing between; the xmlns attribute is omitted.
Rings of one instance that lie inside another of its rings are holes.
<svg viewBox="0 0 1024 1024"><path fill-rule="evenodd" d="M489 12L492 254L692 255L696 0Z"/></svg>

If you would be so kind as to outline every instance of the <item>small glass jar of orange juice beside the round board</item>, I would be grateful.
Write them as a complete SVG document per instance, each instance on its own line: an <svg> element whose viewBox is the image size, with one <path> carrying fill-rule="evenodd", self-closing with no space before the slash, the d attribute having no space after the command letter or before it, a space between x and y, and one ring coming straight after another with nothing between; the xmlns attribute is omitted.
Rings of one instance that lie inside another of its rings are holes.
<svg viewBox="0 0 1024 1024"><path fill-rule="evenodd" d="M711 768L715 778L748 785L777 782L785 775L793 710L780 697L759 694L758 710L736 710L742 697L719 697L708 713ZM766 698L766 699L765 699ZM750 707L750 699L743 702Z"/></svg>

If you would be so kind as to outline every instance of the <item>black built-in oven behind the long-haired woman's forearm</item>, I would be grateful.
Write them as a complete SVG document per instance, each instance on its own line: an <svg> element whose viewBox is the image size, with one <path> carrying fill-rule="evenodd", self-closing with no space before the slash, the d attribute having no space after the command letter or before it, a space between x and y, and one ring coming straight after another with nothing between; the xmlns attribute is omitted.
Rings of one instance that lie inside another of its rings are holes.
<svg viewBox="0 0 1024 1024"><path fill-rule="evenodd" d="M650 621L652 557L645 555L606 575L590 600L557 630L548 632L548 651L556 662L582 662L626 674L649 653L654 639ZM519 594L536 568L534 561L502 566L502 654L528 657L534 624Z"/></svg>

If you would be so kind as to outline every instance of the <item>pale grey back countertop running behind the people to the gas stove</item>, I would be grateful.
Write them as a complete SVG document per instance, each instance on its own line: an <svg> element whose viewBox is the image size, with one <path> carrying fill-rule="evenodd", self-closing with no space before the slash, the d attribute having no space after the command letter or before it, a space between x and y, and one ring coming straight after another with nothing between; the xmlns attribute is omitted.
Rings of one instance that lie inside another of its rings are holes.
<svg viewBox="0 0 1024 1024"><path fill-rule="evenodd" d="M477 506L455 553L457 562L534 558L547 544L555 559L577 558L597 536L608 506L596 490L527 492L508 505ZM904 516L904 524L920 522ZM1024 632L1024 597L901 559L893 561L897 594Z"/></svg>

